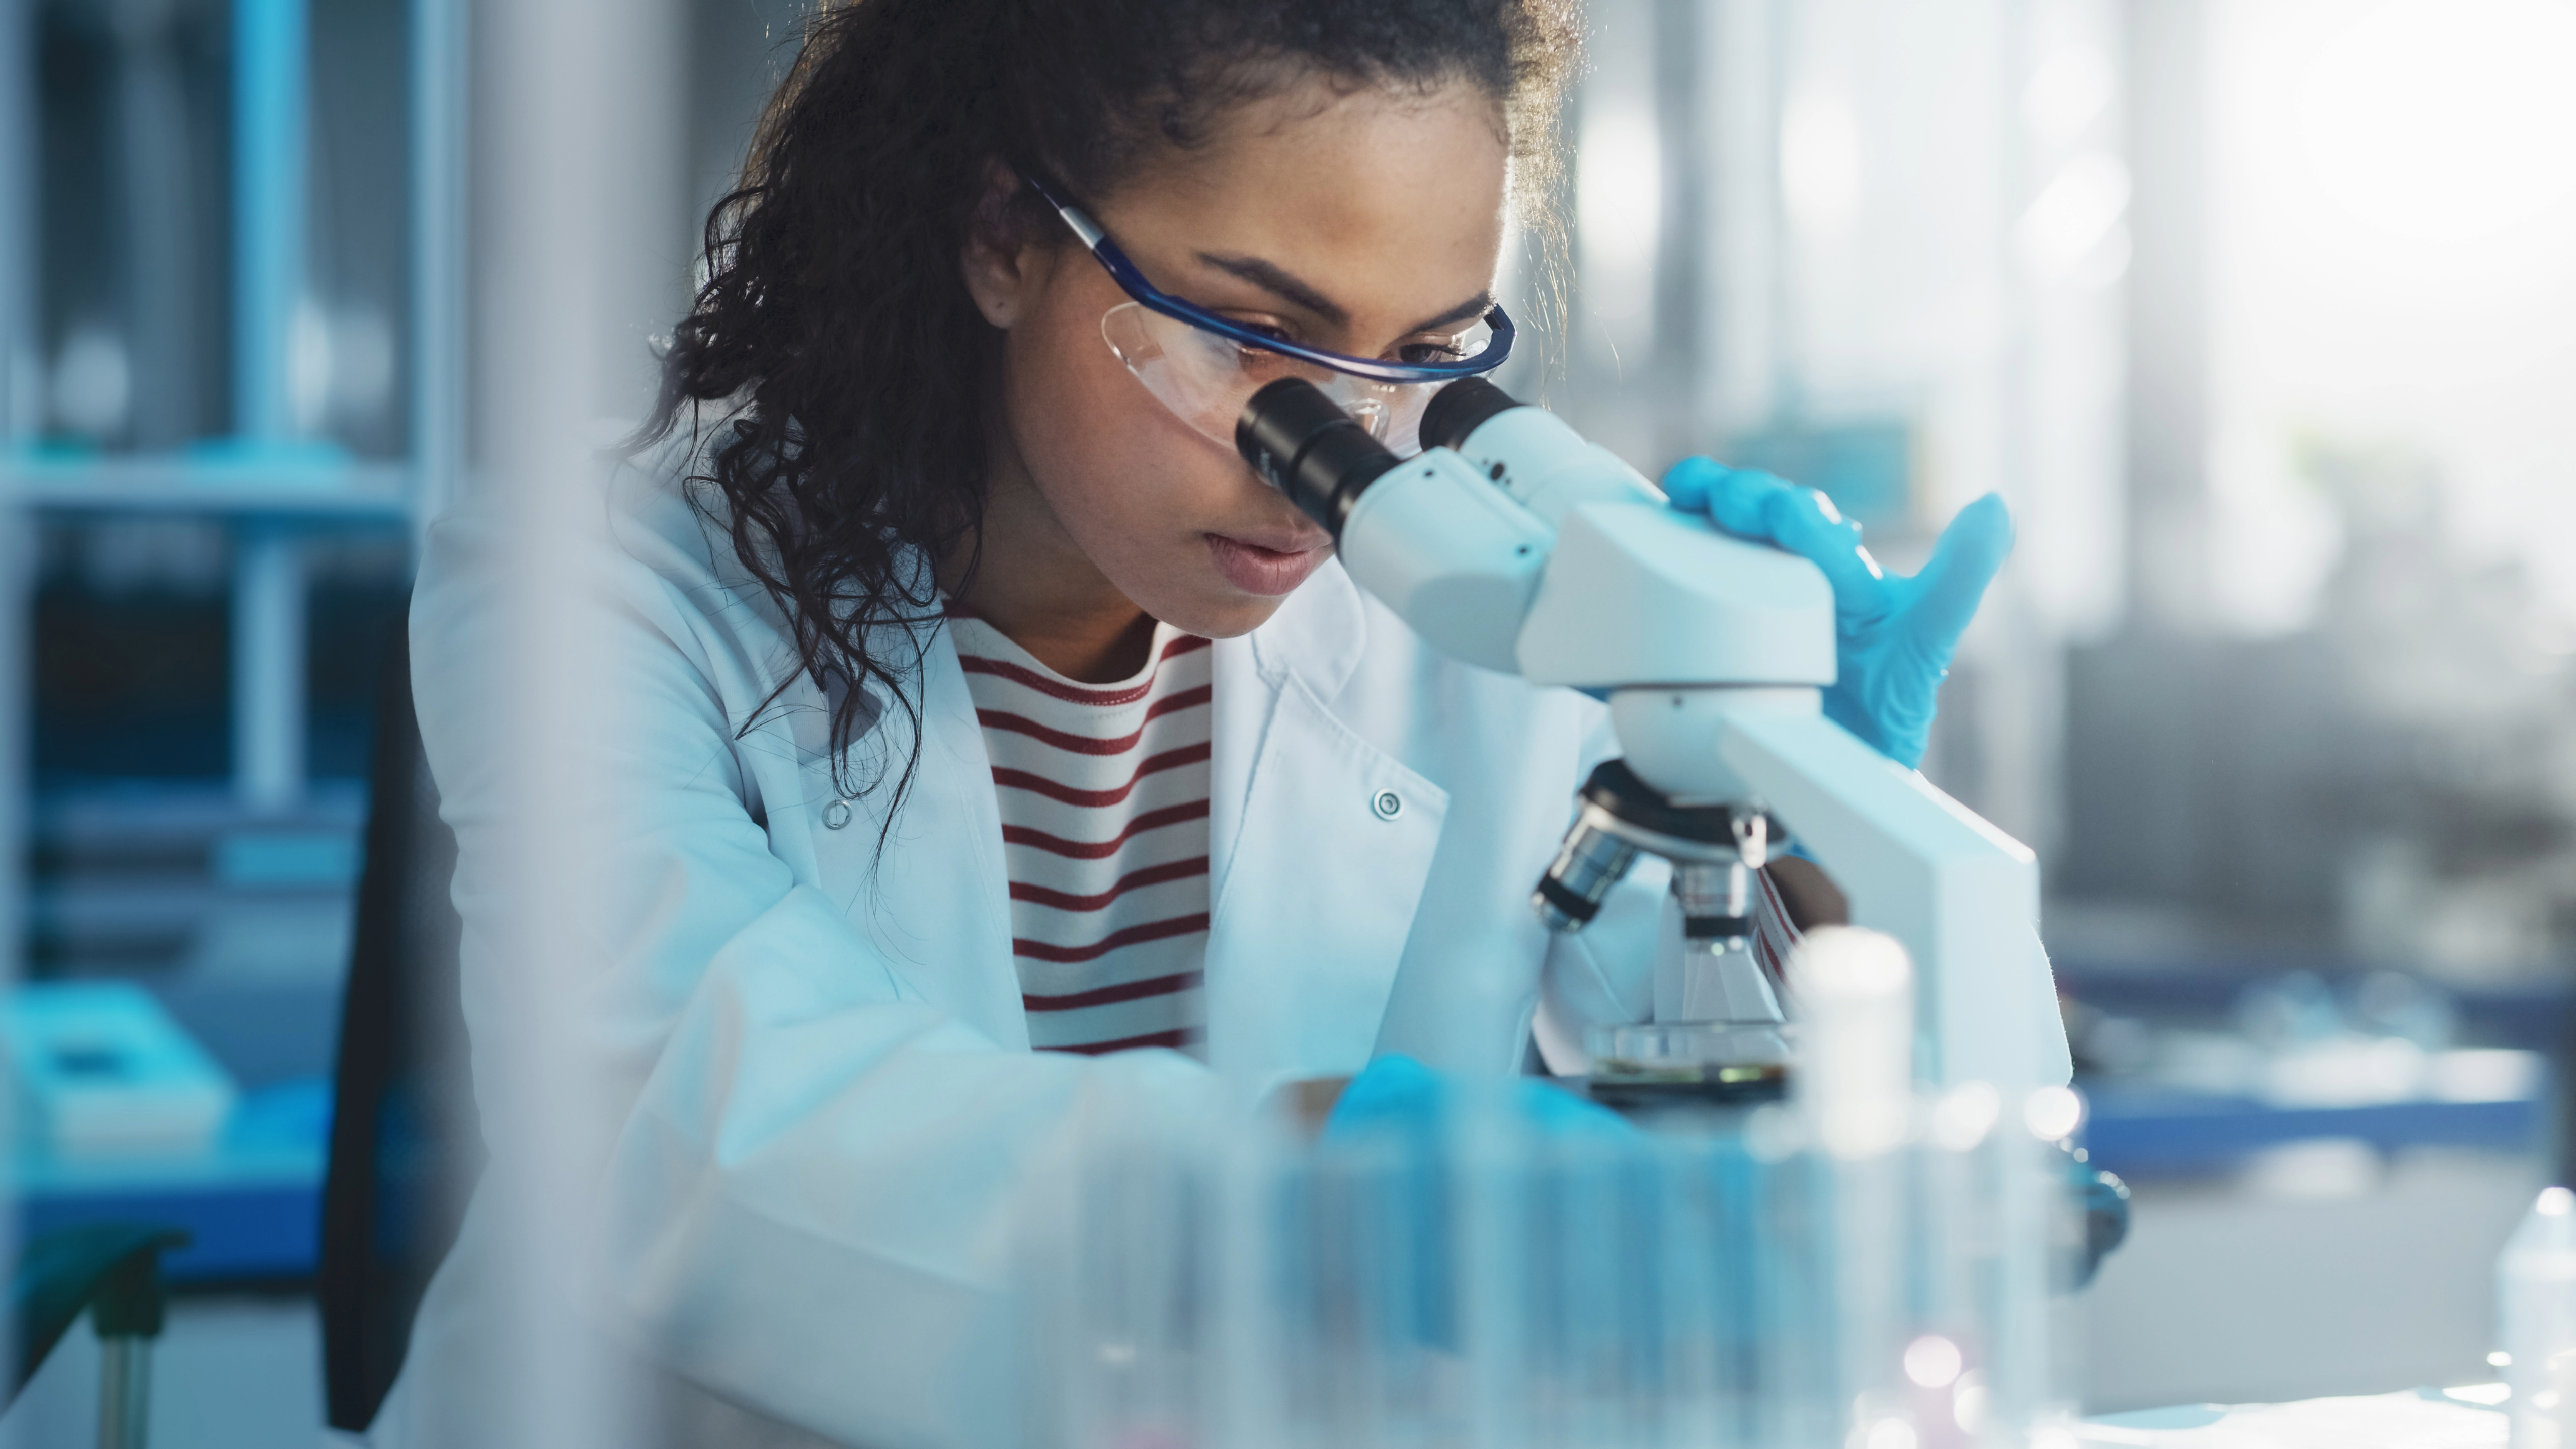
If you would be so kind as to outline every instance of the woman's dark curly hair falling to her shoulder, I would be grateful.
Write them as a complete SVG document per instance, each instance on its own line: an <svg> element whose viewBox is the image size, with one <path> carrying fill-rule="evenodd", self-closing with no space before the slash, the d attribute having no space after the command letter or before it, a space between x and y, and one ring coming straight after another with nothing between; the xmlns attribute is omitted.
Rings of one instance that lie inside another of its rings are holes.
<svg viewBox="0 0 2576 1449"><path fill-rule="evenodd" d="M912 745L889 822L902 804L940 619L927 565L971 549L984 508L981 400L999 333L958 255L992 168L1038 165L1103 196L1157 147L1200 147L1229 108L1309 77L1463 80L1494 98L1515 201L1553 258L1577 5L855 0L806 23L739 188L706 219L706 281L639 443L688 415L696 505L732 534L793 627L799 673L832 701L837 789L881 784L884 768L853 784L848 745L891 706ZM1046 235L1036 227L1054 219L1023 191L1007 224ZM701 405L729 418L711 438L696 436Z"/></svg>

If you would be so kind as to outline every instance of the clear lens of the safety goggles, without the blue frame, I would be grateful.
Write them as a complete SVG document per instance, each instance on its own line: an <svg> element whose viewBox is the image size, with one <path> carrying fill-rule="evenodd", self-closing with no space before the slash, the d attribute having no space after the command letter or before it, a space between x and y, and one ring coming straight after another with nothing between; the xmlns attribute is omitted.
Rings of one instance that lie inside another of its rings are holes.
<svg viewBox="0 0 2576 1449"><path fill-rule="evenodd" d="M1229 451L1244 402L1283 376L1303 376L1368 428L1368 436L1396 454L1417 454L1422 451L1422 410L1443 387L1440 382L1370 382L1267 348L1247 348L1177 317L1164 317L1144 302L1110 307L1110 315L1100 320L1100 335L1146 392ZM1473 358L1492 338L1492 327L1473 322L1450 335L1443 351Z"/></svg>

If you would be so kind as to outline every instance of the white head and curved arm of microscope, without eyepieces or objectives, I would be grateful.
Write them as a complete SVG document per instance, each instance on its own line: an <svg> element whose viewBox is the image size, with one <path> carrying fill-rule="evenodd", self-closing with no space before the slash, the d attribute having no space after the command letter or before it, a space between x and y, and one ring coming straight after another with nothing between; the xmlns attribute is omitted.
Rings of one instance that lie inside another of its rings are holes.
<svg viewBox="0 0 2576 1449"><path fill-rule="evenodd" d="M1628 766L1674 802L1777 815L1852 923L1914 957L1927 1080L2066 1080L2038 864L1824 719L1824 575L1646 500L1574 503L1546 529L1453 456L1414 459L1352 516L1342 554L1360 585L1486 668L1610 691Z"/></svg>

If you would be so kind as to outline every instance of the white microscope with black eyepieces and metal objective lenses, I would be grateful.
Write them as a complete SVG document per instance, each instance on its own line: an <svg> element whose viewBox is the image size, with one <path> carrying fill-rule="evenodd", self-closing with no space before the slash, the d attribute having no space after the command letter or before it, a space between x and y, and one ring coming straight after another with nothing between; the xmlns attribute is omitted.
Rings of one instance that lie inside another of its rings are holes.
<svg viewBox="0 0 2576 1449"><path fill-rule="evenodd" d="M1685 957L1669 1021L1587 1039L1595 1088L1780 1091L1783 1003L1747 941L1752 871L1790 841L1855 926L1911 957L1919 1080L2066 1080L2038 864L1824 717L1834 596L1816 565L1672 511L1484 379L1432 397L1409 459L1303 379L1252 394L1234 441L1432 647L1610 701L1623 758L1592 771L1533 908L1582 931L1638 853L1662 856Z"/></svg>

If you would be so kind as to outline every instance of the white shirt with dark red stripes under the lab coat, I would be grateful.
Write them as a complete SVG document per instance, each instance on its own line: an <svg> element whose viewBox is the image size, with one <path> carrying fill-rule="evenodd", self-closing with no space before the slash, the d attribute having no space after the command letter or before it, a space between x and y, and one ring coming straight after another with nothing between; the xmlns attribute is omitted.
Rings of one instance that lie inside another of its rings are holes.
<svg viewBox="0 0 2576 1449"><path fill-rule="evenodd" d="M1136 678L1074 683L951 616L984 724L1028 1044L1200 1052L1208 949L1208 639L1170 624Z"/></svg>

